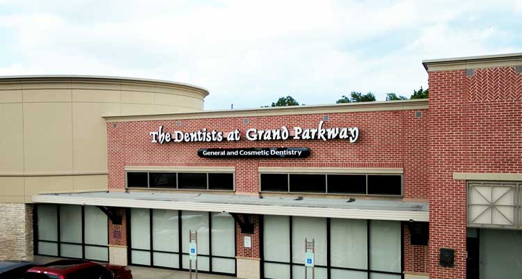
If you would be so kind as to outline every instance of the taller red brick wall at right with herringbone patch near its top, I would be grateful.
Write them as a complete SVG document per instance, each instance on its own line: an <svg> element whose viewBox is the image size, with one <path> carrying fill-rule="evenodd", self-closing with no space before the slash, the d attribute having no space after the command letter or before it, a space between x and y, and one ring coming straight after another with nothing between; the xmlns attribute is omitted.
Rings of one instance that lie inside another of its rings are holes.
<svg viewBox="0 0 522 279"><path fill-rule="evenodd" d="M522 172L522 74L430 72L429 113L430 278L466 278L466 182L452 176ZM454 268L438 266L443 247Z"/></svg>

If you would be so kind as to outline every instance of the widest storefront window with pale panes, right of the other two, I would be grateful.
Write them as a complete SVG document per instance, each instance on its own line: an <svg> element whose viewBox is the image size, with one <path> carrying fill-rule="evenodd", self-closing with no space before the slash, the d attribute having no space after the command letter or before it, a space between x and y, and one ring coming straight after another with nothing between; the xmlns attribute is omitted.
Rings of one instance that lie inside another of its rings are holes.
<svg viewBox="0 0 522 279"><path fill-rule="evenodd" d="M401 278L399 221L263 216L262 226L264 278L304 278L305 238L315 239L315 278Z"/></svg>

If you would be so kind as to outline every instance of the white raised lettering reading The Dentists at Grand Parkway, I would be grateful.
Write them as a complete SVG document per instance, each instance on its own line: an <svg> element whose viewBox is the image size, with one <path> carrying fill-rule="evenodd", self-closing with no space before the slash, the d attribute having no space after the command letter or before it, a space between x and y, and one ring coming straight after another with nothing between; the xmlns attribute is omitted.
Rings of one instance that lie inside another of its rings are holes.
<svg viewBox="0 0 522 279"><path fill-rule="evenodd" d="M207 128L199 131L165 131L163 126L159 126L157 131L151 131L149 134L152 143L193 143L193 142L212 142L212 141L239 141L244 136L248 141L286 141L293 140L322 140L328 141L333 139L346 139L350 143L355 143L359 137L359 129L357 127L344 128L324 128L324 121L320 121L317 128L303 129L301 127L293 127L290 131L287 127L282 126L279 129L247 129L242 135L239 129L234 131L212 131Z"/></svg>

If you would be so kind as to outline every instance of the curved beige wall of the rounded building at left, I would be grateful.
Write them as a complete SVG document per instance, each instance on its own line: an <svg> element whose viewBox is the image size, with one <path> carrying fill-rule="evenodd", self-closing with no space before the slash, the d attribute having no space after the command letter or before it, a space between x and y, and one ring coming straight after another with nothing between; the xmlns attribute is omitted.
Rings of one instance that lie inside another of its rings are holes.
<svg viewBox="0 0 522 279"><path fill-rule="evenodd" d="M0 77L0 202L107 188L103 114L203 110L208 91L116 77Z"/></svg>

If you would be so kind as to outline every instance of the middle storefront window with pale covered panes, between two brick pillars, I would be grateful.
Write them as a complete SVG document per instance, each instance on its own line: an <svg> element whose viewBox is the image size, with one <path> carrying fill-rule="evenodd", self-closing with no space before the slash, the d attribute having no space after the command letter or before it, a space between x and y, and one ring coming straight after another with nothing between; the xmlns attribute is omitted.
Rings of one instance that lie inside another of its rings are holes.
<svg viewBox="0 0 522 279"><path fill-rule="evenodd" d="M132 208L129 221L132 264L188 269L189 230L197 230L198 270L235 273L235 221L228 213Z"/></svg>

